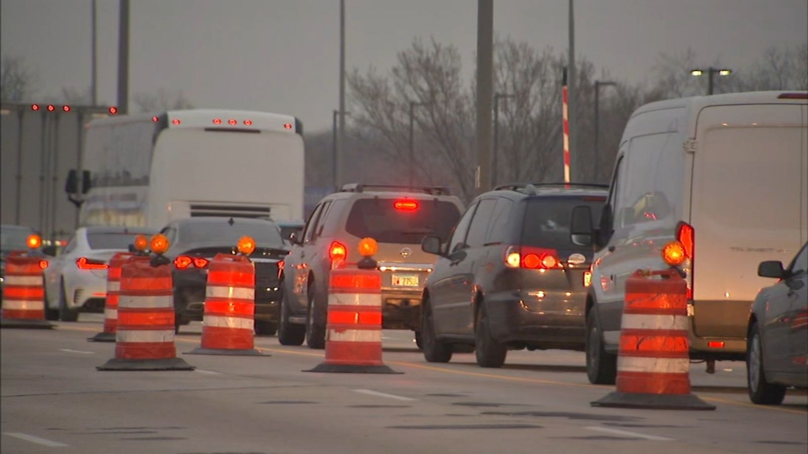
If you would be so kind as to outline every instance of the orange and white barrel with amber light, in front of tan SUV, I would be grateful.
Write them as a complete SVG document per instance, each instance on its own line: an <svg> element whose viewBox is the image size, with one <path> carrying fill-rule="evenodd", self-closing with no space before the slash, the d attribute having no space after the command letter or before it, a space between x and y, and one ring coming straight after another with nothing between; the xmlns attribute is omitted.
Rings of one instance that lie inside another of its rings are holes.
<svg viewBox="0 0 808 454"><path fill-rule="evenodd" d="M368 240L360 242L360 254L372 260L376 248L368 247ZM375 263L370 269L343 264L330 271L326 360L305 372L400 373L381 360L381 271Z"/></svg>

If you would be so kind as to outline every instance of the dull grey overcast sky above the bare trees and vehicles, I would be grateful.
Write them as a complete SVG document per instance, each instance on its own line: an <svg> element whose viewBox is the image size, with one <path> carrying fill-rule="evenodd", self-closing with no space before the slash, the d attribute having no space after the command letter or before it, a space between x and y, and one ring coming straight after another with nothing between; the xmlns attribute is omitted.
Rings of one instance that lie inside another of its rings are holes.
<svg viewBox="0 0 808 454"><path fill-rule="evenodd" d="M118 1L98 0L99 103L116 103ZM473 68L477 2L346 0L347 69L389 69L415 36ZM40 73L40 95L90 85L91 0L2 0L0 51ZM330 128L339 103L338 0L131 0L130 90L182 90L196 107L275 111ZM575 0L579 55L640 82L660 52L743 68L808 40L806 0ZM566 0L496 0L494 32L567 46Z"/></svg>

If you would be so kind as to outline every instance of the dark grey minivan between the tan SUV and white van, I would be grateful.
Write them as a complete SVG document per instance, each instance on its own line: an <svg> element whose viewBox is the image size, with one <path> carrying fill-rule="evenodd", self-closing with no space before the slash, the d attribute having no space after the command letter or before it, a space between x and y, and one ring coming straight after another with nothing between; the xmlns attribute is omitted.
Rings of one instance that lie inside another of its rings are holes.
<svg viewBox="0 0 808 454"><path fill-rule="evenodd" d="M427 361L468 346L485 368L509 349L583 350L592 252L570 239L570 216L582 204L600 212L606 194L581 183L500 186L473 200L448 243L424 238L440 256L421 303Z"/></svg>

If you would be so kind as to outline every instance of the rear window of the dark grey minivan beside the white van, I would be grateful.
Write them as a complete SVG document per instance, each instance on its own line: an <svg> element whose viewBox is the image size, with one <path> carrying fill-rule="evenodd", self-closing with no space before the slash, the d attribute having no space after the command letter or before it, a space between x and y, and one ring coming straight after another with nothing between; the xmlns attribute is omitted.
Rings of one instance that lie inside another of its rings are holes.
<svg viewBox="0 0 808 454"><path fill-rule="evenodd" d="M522 245L555 250L588 250L570 240L572 208L588 205L592 219L600 219L606 197L540 197L528 200L522 227Z"/></svg>

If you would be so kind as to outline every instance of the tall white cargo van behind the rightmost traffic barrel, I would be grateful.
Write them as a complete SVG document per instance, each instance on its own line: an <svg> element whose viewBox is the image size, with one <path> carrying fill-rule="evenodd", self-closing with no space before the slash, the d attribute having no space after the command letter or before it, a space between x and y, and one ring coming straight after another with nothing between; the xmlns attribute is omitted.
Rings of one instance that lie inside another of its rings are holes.
<svg viewBox="0 0 808 454"><path fill-rule="evenodd" d="M674 239L688 255L691 358L742 360L751 301L771 284L758 277L758 263L787 263L808 240L808 93L640 107L623 132L592 233L591 382L614 382L626 279L666 268L660 252Z"/></svg>

